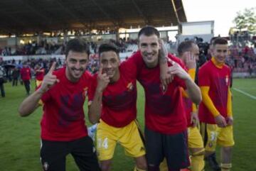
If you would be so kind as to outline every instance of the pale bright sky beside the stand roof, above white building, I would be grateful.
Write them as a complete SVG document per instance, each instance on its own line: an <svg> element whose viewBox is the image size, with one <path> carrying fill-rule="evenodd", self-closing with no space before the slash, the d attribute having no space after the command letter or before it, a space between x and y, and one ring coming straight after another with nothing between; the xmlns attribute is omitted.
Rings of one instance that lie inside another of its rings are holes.
<svg viewBox="0 0 256 171"><path fill-rule="evenodd" d="M214 21L214 34L227 36L238 11L256 8L255 0L183 0L186 18L192 21Z"/></svg>

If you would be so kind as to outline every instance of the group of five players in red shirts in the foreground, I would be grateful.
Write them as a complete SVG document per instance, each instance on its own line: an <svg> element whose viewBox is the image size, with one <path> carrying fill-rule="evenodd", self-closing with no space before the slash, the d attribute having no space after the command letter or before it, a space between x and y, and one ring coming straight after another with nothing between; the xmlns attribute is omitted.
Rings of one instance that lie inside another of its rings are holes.
<svg viewBox="0 0 256 171"><path fill-rule="evenodd" d="M100 70L93 76L85 71L89 47L83 40L70 40L65 67L55 70L53 63L38 89L21 103L21 116L43 105L43 170L64 171L65 157L71 154L80 170L110 171L117 143L134 158L135 171L201 171L204 158L215 155L216 144L221 145L221 164L214 169L231 169L227 40L213 41L212 58L198 72L196 43L181 43L175 57L167 53L154 27L142 28L138 40L139 51L124 62L114 45L100 45ZM144 133L137 122L137 81L145 92ZM85 125L86 96L90 123L97 123L97 148Z"/></svg>

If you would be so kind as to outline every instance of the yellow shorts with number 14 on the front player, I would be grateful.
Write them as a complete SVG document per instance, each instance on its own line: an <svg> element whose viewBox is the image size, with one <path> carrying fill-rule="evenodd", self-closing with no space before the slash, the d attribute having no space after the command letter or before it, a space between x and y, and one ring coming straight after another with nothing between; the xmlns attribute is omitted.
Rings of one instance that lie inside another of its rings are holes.
<svg viewBox="0 0 256 171"><path fill-rule="evenodd" d="M117 142L124 147L125 154L132 158L146 154L136 121L132 121L122 128L116 128L100 120L97 125L99 160L112 159Z"/></svg>

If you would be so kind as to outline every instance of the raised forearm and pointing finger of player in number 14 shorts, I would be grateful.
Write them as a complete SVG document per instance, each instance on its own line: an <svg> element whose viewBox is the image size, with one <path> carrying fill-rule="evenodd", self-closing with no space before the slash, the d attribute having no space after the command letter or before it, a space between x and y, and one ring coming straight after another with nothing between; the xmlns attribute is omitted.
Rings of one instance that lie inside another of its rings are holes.
<svg viewBox="0 0 256 171"><path fill-rule="evenodd" d="M100 70L97 75L97 87L94 92L94 98L90 101L88 116L89 121L92 124L97 123L100 120L101 106L102 106L102 93L110 83L110 78L106 73L102 73L102 65L100 65Z"/></svg>

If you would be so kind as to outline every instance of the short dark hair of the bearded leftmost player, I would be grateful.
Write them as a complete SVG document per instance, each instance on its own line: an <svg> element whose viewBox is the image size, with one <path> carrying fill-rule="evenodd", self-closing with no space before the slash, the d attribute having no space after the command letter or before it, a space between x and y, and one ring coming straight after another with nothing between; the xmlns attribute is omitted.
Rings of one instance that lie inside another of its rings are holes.
<svg viewBox="0 0 256 171"><path fill-rule="evenodd" d="M68 57L68 53L70 50L76 53L87 53L88 57L90 55L89 45L80 38L74 38L68 41L67 46L65 48L65 56Z"/></svg>

